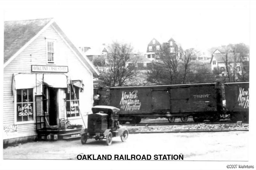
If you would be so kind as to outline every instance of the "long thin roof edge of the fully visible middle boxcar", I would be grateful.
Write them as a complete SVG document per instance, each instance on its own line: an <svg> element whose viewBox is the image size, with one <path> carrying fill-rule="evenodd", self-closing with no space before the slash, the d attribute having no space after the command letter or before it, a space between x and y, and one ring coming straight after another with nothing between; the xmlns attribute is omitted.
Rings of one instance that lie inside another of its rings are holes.
<svg viewBox="0 0 256 170"><path fill-rule="evenodd" d="M197 84L179 84L179 85L143 85L143 86L122 86L122 87L110 87L110 89L123 89L123 88L167 88L167 87L180 87L180 86L197 86L197 85L215 85L215 83L197 83Z"/></svg>

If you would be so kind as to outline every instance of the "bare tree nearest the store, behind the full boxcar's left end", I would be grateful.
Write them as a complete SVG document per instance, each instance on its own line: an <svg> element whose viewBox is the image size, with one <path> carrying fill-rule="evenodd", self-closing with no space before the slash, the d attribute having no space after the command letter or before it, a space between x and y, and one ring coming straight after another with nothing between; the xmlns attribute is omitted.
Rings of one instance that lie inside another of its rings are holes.
<svg viewBox="0 0 256 170"><path fill-rule="evenodd" d="M135 62L129 63L132 53L130 44L113 42L109 46L107 67L100 71L99 80L108 86L122 86L136 75Z"/></svg>

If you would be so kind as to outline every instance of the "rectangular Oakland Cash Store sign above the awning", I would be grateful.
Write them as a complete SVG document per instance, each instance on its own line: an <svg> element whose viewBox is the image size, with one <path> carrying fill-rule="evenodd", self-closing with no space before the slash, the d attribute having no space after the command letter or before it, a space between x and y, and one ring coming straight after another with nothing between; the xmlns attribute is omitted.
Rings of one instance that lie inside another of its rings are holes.
<svg viewBox="0 0 256 170"><path fill-rule="evenodd" d="M68 66L56 66L56 65L31 65L32 72L68 72Z"/></svg>

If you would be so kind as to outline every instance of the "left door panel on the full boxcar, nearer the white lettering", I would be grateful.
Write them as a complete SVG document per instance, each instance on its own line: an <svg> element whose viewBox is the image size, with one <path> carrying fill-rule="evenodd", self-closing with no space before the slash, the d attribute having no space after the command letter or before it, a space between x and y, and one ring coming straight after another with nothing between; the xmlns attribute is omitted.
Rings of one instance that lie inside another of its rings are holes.
<svg viewBox="0 0 256 170"><path fill-rule="evenodd" d="M152 107L154 112L171 111L169 89L152 89Z"/></svg>

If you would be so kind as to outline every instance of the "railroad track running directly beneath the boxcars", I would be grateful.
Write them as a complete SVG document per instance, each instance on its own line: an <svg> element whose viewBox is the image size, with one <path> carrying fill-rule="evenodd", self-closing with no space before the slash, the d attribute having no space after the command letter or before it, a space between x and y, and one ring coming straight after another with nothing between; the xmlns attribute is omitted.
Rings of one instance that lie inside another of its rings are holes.
<svg viewBox="0 0 256 170"><path fill-rule="evenodd" d="M175 122L175 123L169 123L169 122L153 122L153 123L138 123L138 124L122 124L124 126L161 126L161 125L193 125L193 124L199 124L199 123L205 123L205 124L235 124L236 122ZM249 122L243 122L243 123L249 123Z"/></svg>

